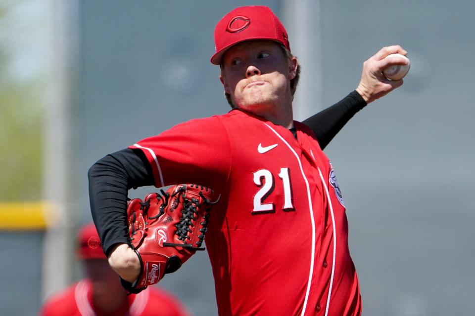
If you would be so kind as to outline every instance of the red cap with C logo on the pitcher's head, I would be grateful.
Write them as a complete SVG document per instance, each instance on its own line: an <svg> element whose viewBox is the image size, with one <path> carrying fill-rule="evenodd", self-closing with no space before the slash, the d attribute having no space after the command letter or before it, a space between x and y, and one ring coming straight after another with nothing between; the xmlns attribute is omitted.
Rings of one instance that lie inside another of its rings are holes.
<svg viewBox="0 0 475 316"><path fill-rule="evenodd" d="M219 65L226 50L244 40L275 40L290 51L287 31L269 7L241 6L226 14L216 24L216 53L211 57L211 63Z"/></svg>

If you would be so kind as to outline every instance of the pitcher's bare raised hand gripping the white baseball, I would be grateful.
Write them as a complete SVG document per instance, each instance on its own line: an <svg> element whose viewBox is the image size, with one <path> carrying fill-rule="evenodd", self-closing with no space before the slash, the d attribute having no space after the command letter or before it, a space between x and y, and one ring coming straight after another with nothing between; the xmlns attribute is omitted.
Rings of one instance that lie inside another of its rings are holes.
<svg viewBox="0 0 475 316"><path fill-rule="evenodd" d="M388 80L382 75L382 71L389 66L406 64L402 58L387 58L389 54L399 53L406 56L407 51L399 45L381 48L373 57L363 63L363 74L356 91L370 103L391 92L403 84L403 80Z"/></svg>

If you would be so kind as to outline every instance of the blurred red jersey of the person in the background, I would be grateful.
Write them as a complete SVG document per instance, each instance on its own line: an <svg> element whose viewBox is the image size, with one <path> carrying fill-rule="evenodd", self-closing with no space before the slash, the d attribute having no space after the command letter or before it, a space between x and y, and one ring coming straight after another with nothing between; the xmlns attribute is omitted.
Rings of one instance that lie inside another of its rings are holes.
<svg viewBox="0 0 475 316"><path fill-rule="evenodd" d="M92 284L81 280L54 295L43 305L40 316L188 316L185 308L171 295L151 288L127 296L127 305L120 312L99 311L92 301Z"/></svg>

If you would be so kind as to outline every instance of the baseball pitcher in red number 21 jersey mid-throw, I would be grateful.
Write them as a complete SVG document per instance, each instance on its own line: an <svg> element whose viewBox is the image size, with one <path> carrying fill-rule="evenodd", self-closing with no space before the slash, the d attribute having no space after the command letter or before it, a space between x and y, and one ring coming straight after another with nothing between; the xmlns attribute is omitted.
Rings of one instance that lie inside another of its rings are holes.
<svg viewBox="0 0 475 316"><path fill-rule="evenodd" d="M89 171L110 265L129 291L141 291L205 238L219 315L361 315L347 205L322 150L355 113L402 84L381 72L404 63L385 56L407 52L382 48L364 63L355 91L298 122L300 66L268 7L232 10L214 39L211 63L231 111L178 124ZM173 187L128 204L127 190L146 185Z"/></svg>

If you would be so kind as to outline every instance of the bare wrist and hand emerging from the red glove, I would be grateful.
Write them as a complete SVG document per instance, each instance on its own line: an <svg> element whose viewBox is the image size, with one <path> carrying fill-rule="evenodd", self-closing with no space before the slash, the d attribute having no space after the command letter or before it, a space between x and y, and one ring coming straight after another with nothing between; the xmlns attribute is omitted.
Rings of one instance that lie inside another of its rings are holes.
<svg viewBox="0 0 475 316"><path fill-rule="evenodd" d="M140 260L134 249L126 243L117 244L109 255L110 267L124 280L135 282L141 271Z"/></svg>

